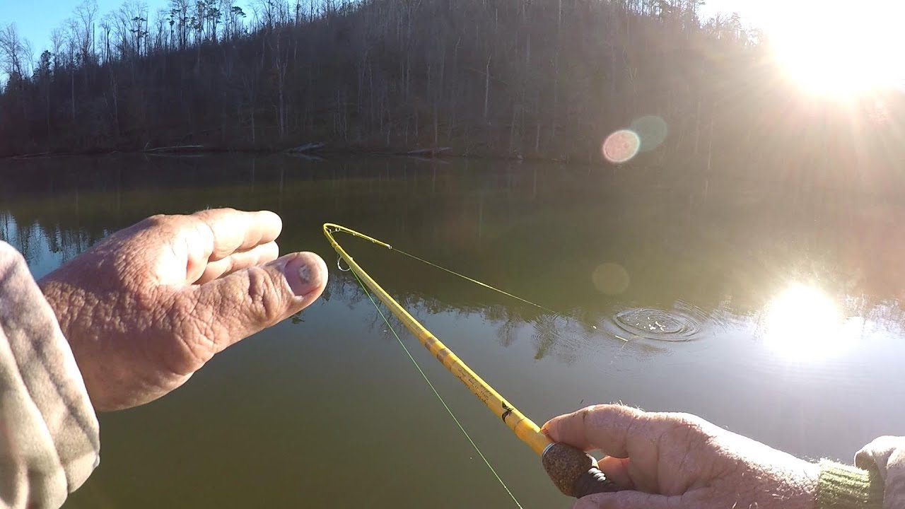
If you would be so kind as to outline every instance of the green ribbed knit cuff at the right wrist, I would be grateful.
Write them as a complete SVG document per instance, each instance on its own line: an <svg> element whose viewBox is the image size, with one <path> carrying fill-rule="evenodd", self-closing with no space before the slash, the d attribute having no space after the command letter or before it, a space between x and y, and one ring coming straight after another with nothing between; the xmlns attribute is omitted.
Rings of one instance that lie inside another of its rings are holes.
<svg viewBox="0 0 905 509"><path fill-rule="evenodd" d="M817 477L817 509L882 509L880 475L824 459Z"/></svg>

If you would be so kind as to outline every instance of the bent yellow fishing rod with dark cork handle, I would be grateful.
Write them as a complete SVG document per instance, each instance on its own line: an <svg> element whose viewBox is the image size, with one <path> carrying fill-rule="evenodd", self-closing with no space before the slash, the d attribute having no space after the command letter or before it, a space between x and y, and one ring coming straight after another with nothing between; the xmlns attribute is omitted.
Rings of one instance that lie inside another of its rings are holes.
<svg viewBox="0 0 905 509"><path fill-rule="evenodd" d="M386 308L399 319L399 322L405 325L408 331L412 332L414 337L424 345L424 348L430 351L457 379L462 381L475 397L481 399L494 415L500 418L506 426L510 427L515 436L519 437L519 440L531 447L531 450L540 456L544 469L553 483L557 485L559 491L576 498L595 493L616 491L615 485L606 479L604 473L596 467L593 457L588 456L584 451L575 447L553 442L541 433L538 425L525 417L518 408L510 405L506 399L503 399L499 392L494 390L484 379L481 379L462 359L452 353L431 331L424 328L424 325L415 320L411 314L405 311L402 305L397 303L389 293L386 293L374 281L374 278L368 275L361 268L361 265L357 264L352 256L348 255L346 250L339 245L333 234L341 232L354 235L387 249L393 249L392 245L333 223L325 223L323 229L330 245L336 250L339 257L348 264L349 269L357 275L359 281L364 283L376 295L377 299L386 305ZM519 298L519 300L523 299Z"/></svg>

